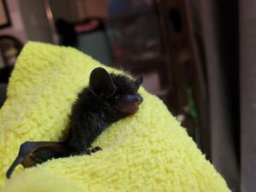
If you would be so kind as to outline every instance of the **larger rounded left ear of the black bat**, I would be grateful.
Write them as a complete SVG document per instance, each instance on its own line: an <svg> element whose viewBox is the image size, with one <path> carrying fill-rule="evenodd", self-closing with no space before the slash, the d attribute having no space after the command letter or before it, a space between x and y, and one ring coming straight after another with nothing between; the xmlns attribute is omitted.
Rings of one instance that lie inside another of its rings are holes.
<svg viewBox="0 0 256 192"><path fill-rule="evenodd" d="M97 96L113 96L116 91L113 80L102 67L97 67L90 73L89 84L90 89L93 90Z"/></svg>

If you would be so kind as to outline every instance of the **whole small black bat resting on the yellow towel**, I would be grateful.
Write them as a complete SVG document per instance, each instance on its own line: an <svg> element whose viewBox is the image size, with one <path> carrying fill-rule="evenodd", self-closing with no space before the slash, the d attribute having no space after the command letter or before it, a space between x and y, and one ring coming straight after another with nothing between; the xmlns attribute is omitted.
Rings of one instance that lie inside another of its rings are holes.
<svg viewBox="0 0 256 192"><path fill-rule="evenodd" d="M108 125L137 112L143 97L137 90L143 76L129 79L124 75L108 73L97 67L90 73L88 88L79 93L70 116L69 134L64 142L26 142L6 172L10 177L15 167L21 164L31 167L53 158L77 154L90 154L100 147L90 149L90 144Z"/></svg>

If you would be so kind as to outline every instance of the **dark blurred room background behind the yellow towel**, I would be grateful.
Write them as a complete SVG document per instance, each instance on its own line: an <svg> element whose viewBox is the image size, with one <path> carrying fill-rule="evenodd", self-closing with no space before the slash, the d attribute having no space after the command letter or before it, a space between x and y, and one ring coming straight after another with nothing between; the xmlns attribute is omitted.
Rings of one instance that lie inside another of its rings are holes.
<svg viewBox="0 0 256 192"><path fill-rule="evenodd" d="M27 41L144 74L232 191L255 191L253 0L0 0L0 108Z"/></svg>

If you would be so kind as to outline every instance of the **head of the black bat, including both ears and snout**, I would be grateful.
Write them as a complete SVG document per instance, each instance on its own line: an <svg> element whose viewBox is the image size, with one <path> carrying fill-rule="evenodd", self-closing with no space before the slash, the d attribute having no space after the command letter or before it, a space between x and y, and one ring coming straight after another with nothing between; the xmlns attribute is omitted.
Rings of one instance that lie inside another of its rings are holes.
<svg viewBox="0 0 256 192"><path fill-rule="evenodd" d="M137 93L142 83L143 76L129 79L124 75L108 73L102 67L90 73L90 89L122 117L136 113L143 102L143 97Z"/></svg>

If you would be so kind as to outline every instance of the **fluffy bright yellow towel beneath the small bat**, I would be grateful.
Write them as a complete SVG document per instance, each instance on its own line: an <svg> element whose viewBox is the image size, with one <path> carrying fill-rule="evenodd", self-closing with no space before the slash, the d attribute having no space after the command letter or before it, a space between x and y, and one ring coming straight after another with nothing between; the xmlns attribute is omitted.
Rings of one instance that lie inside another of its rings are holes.
<svg viewBox="0 0 256 192"><path fill-rule="evenodd" d="M103 66L76 49L26 44L0 110L3 191L230 191L166 106L143 88L138 113L96 139L93 145L102 151L19 166L7 181L4 174L21 143L61 138L72 103L95 67Z"/></svg>

